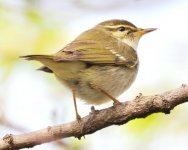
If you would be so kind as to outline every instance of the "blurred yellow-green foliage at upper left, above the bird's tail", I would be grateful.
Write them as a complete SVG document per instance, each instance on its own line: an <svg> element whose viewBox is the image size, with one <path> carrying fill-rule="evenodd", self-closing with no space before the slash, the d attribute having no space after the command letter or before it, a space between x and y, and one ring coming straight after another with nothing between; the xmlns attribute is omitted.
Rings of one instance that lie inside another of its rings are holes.
<svg viewBox="0 0 188 150"><path fill-rule="evenodd" d="M9 76L19 56L49 54L63 47L62 28L34 7L16 9L0 5L0 66Z"/></svg>

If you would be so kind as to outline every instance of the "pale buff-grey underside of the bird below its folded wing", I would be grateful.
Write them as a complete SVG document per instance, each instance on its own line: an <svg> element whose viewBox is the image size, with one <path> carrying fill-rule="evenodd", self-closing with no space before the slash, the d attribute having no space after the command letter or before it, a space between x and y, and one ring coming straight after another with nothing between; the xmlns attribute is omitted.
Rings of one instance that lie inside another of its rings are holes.
<svg viewBox="0 0 188 150"><path fill-rule="evenodd" d="M88 104L102 104L110 100L100 89L114 98L122 94L133 83L138 67L129 69L121 66L74 64L74 69L65 64L53 69L57 78L70 89L76 90L76 96ZM63 66L63 67L62 67Z"/></svg>

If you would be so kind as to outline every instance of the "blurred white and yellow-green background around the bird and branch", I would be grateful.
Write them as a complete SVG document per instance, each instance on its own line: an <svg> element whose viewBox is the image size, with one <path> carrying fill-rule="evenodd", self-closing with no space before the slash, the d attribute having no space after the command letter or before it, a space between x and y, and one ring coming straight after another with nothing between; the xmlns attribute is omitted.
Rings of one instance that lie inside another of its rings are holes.
<svg viewBox="0 0 188 150"><path fill-rule="evenodd" d="M152 95L188 83L188 1L186 0L1 0L0 136L20 134L75 120L72 95L41 65L18 57L55 53L84 30L108 19L158 28L138 46L140 68L120 101ZM106 108L112 102L96 106ZM81 116L90 105L78 102ZM188 104L171 114L153 114L111 126L81 140L68 138L32 150L187 150Z"/></svg>

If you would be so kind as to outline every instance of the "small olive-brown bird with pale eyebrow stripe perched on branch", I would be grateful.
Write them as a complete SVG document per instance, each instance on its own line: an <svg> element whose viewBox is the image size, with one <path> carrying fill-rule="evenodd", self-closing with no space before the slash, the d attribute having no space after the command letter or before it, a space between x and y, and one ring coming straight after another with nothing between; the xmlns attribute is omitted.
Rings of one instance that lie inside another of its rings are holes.
<svg viewBox="0 0 188 150"><path fill-rule="evenodd" d="M109 20L80 34L52 55L21 56L40 61L39 70L54 73L72 90L77 120L81 117L76 97L98 105L116 99L134 81L139 60L137 46L142 35L155 28L141 29L126 20Z"/></svg>

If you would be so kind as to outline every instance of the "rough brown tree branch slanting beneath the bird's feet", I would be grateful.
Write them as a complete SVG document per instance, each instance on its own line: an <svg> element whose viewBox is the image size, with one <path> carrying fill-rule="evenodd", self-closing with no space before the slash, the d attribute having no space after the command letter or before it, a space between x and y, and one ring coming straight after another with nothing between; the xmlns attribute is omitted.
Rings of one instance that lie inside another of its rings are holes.
<svg viewBox="0 0 188 150"><path fill-rule="evenodd" d="M169 114L175 106L188 102L188 86L154 96L137 96L133 101L102 110L94 110L80 122L49 126L38 131L12 135L0 139L0 150L31 148L35 145L55 141L61 138L77 137L94 133L111 125L125 124L135 118L143 118L152 113Z"/></svg>

